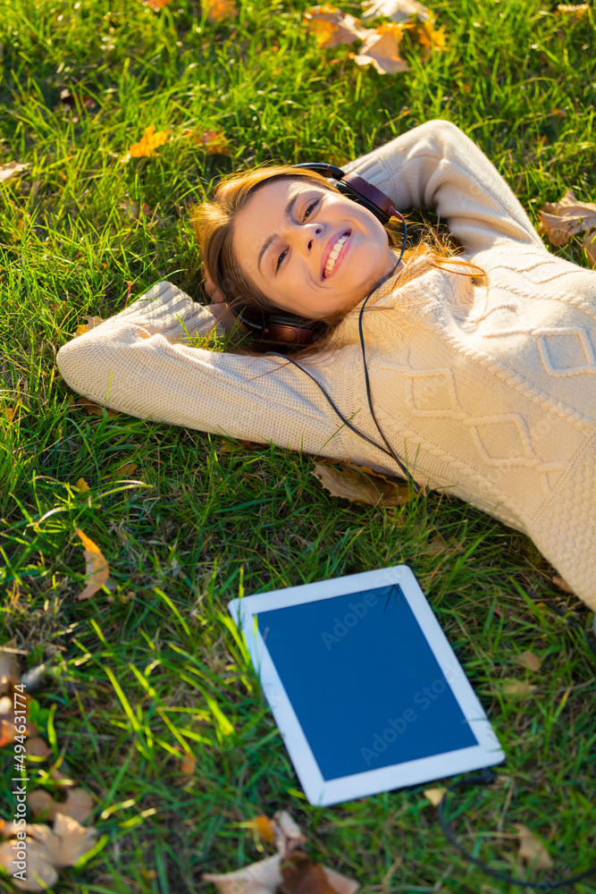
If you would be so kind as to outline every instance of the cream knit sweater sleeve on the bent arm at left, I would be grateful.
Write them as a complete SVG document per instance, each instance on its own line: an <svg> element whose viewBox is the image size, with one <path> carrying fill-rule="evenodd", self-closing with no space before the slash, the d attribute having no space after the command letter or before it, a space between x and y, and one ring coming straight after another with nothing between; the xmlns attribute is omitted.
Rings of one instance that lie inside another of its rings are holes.
<svg viewBox="0 0 596 894"><path fill-rule="evenodd" d="M73 391L130 416L326 456L351 452L307 375L280 358L181 344L182 323L191 335L205 333L214 317L171 283L159 283L64 344L56 363ZM309 371L331 388L321 370ZM345 376L334 369L333 378L341 383Z"/></svg>

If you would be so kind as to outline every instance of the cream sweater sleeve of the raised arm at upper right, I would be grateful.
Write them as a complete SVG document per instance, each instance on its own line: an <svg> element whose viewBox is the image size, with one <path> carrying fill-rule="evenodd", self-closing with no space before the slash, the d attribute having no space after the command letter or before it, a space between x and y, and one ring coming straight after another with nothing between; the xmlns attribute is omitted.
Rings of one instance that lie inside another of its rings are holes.
<svg viewBox="0 0 596 894"><path fill-rule="evenodd" d="M398 209L432 208L470 254L499 239L544 249L507 183L455 124L421 124L345 169L386 192Z"/></svg>

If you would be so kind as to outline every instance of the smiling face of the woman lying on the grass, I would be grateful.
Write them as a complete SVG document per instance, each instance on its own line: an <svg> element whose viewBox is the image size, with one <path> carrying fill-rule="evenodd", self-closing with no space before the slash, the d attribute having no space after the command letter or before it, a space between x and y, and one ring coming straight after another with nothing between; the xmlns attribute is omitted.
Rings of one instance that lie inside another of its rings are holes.
<svg viewBox="0 0 596 894"><path fill-rule="evenodd" d="M292 177L256 190L236 217L232 244L257 289L310 319L356 307L396 260L382 223L365 207Z"/></svg>

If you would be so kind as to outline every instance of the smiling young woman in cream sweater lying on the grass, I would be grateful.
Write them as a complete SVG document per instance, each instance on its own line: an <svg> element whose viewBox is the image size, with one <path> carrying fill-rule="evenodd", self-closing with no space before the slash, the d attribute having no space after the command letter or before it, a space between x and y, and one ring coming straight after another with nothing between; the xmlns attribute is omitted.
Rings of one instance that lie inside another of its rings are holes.
<svg viewBox="0 0 596 894"><path fill-rule="evenodd" d="M394 238L322 178L292 168L240 177L198 215L209 286L252 312L318 321L318 341L297 355L303 368L181 343L182 324L206 333L217 308L158 283L59 350L65 381L131 416L399 475L395 453L419 485L532 537L596 610L596 273L544 248L449 122L347 170L398 209L433 208L463 254L418 250L396 268ZM371 404L358 331L367 297Z"/></svg>

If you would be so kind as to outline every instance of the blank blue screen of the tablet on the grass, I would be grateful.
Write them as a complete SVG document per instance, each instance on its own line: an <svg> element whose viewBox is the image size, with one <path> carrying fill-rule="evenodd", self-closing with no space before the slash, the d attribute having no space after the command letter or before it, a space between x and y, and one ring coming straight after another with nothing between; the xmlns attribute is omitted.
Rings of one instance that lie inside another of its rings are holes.
<svg viewBox="0 0 596 894"><path fill-rule="evenodd" d="M325 781L478 744L398 585L257 621Z"/></svg>

